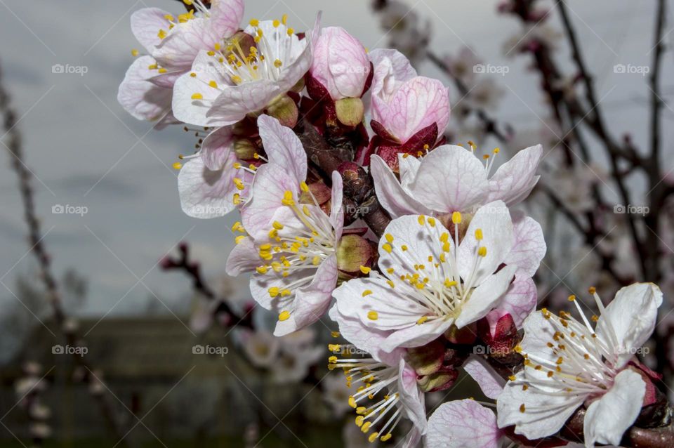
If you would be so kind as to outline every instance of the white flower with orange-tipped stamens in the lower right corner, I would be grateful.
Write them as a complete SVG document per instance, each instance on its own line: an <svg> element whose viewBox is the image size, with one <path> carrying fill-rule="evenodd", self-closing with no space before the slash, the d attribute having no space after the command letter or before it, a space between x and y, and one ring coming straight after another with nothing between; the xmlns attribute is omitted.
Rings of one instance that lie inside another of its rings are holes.
<svg viewBox="0 0 674 448"><path fill-rule="evenodd" d="M518 372L498 397L498 426L515 425L530 440L557 433L583 404L586 447L620 443L639 415L646 383L630 367L652 333L662 293L654 284L626 286L605 309L593 289L600 317L593 328L574 296L581 321L548 310L524 322L524 355Z"/></svg>

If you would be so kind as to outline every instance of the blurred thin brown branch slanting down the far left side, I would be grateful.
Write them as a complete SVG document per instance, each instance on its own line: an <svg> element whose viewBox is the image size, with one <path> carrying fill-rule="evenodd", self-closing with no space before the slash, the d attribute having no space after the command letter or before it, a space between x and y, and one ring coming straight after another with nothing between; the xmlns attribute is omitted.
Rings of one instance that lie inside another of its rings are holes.
<svg viewBox="0 0 674 448"><path fill-rule="evenodd" d="M7 143L2 142L2 144L11 155L11 166L18 176L19 190L24 209L24 219L28 228L28 242L31 248L30 252L37 259L39 265L39 277L44 285L46 298L51 306L53 318L58 330L64 334L68 345L77 345L81 347L84 345L84 341L67 325L67 317L62 308L58 282L51 270L51 257L46 251L44 235L42 234L39 219L37 218L37 213L35 211L34 191L31 185L32 173L23 159L22 140L16 126L16 114L11 107L10 96L2 85L1 77L0 72L0 111L2 113L5 135L7 136ZM86 369L86 381L89 381L90 383L95 381L91 378L93 367L86 363L84 357L74 353L72 358L77 366ZM115 437L120 439L121 444L124 444L127 447L131 446L128 440L126 440L126 435L128 434L126 428L124 428L121 421L117 419L113 406L114 402L110 400L110 395L95 394L95 398L99 404L101 414L103 414L107 425L111 428Z"/></svg>

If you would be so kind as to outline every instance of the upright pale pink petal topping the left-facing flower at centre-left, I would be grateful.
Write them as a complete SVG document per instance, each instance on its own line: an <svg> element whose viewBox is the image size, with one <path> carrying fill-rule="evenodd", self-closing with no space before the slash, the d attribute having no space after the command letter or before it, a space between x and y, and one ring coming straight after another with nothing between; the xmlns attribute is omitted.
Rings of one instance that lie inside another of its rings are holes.
<svg viewBox="0 0 674 448"><path fill-rule="evenodd" d="M260 115L258 129L270 164L292 173L298 185L304 182L307 178L307 153L293 130L269 115Z"/></svg>

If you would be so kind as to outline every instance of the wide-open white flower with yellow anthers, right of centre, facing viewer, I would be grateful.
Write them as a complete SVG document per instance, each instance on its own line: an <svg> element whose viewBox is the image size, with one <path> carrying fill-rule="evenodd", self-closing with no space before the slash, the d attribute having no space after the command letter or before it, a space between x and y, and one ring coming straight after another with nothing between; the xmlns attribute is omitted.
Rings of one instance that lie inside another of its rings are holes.
<svg viewBox="0 0 674 448"><path fill-rule="evenodd" d="M393 220L379 242L382 275L353 279L333 293L338 314L386 331L383 350L417 347L452 325L481 319L508 291L516 264L510 213L501 201L477 210L459 243L461 213L450 232L423 215Z"/></svg>

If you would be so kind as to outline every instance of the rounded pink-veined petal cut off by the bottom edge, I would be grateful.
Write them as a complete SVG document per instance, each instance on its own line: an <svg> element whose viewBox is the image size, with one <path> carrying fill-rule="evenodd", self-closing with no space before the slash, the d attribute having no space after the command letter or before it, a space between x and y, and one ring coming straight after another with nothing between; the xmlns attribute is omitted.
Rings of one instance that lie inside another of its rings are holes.
<svg viewBox="0 0 674 448"><path fill-rule="evenodd" d="M443 403L428 419L427 448L498 448L494 411L475 400Z"/></svg>

